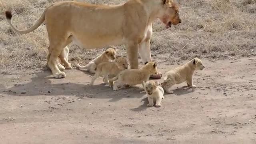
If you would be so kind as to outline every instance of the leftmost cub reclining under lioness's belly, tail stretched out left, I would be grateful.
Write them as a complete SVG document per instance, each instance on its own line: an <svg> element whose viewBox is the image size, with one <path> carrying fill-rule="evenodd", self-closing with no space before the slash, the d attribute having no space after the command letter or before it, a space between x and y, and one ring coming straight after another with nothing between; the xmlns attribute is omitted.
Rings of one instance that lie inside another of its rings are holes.
<svg viewBox="0 0 256 144"><path fill-rule="evenodd" d="M90 73L95 73L98 64L102 62L109 62L110 60L115 60L116 58L116 50L113 48L108 48L105 52L102 52L100 56L95 58L94 60L90 61L86 66L80 66L80 64L77 64L77 67L79 70L89 70Z"/></svg>

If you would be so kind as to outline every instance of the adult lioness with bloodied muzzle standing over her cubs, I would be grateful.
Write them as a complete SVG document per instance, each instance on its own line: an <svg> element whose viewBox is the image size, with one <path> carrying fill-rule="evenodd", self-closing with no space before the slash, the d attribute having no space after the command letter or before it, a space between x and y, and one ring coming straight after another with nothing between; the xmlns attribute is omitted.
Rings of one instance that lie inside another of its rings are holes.
<svg viewBox="0 0 256 144"><path fill-rule="evenodd" d="M56 2L27 30L16 29L11 23L11 12L5 14L10 26L22 34L32 32L45 21L50 42L47 61L55 78L66 76L57 67L56 60L72 41L87 49L124 44L131 68L138 69L138 52L144 63L152 61L150 38L154 20L160 19L166 28L181 23L173 0L128 0L115 6Z"/></svg>

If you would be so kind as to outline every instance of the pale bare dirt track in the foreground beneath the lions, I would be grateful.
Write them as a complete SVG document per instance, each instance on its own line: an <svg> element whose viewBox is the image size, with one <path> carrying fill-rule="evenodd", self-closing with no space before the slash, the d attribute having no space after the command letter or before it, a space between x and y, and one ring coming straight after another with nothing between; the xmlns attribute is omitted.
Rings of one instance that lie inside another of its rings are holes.
<svg viewBox="0 0 256 144"><path fill-rule="evenodd" d="M184 64L186 61L179 63ZM185 83L147 107L141 86L113 91L90 75L50 70L0 75L2 144L256 143L256 57L203 60L197 88ZM176 65L159 64L166 72Z"/></svg>

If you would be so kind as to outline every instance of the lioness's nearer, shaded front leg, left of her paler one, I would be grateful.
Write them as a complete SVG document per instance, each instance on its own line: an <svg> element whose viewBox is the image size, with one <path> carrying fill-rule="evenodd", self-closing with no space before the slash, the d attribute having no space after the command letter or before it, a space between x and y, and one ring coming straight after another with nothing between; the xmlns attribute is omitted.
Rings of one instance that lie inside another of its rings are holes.
<svg viewBox="0 0 256 144"><path fill-rule="evenodd" d="M128 56L128 60L130 63L131 69L138 69L139 62L138 62L138 44L130 43L125 45L126 53Z"/></svg>

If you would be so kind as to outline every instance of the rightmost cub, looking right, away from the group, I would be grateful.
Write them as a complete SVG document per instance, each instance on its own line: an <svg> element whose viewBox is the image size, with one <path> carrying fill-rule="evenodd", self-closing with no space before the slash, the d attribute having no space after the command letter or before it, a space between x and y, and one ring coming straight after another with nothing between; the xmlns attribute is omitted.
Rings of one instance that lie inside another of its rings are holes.
<svg viewBox="0 0 256 144"><path fill-rule="evenodd" d="M199 58L194 58L183 66L166 72L162 88L164 88L167 93L172 94L173 91L170 90L170 88L174 84L180 84L185 81L189 87L196 87L195 85L193 85L194 71L203 70L204 68L205 66L202 63L202 60L200 60Z"/></svg>

